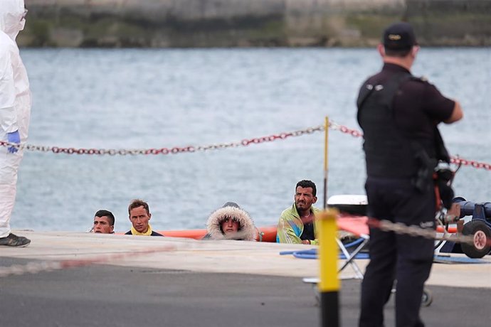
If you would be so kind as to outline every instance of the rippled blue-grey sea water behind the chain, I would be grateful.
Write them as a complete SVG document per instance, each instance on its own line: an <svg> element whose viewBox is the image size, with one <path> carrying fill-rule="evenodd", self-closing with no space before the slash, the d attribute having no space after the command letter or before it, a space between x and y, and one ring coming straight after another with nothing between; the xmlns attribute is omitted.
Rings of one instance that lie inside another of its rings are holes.
<svg viewBox="0 0 491 327"><path fill-rule="evenodd" d="M21 49L33 92L28 144L81 149L160 149L223 144L317 127L352 129L361 82L381 68L376 50ZM452 155L491 163L491 49L423 48L413 66L465 118L440 130ZM227 201L256 225L275 225L295 184L324 188L324 134L231 149L97 156L26 151L11 226L88 230L111 210L130 229L127 205L149 203L155 230L204 228ZM329 130L327 195L364 194L361 138ZM464 166L455 193L491 201L491 171Z"/></svg>

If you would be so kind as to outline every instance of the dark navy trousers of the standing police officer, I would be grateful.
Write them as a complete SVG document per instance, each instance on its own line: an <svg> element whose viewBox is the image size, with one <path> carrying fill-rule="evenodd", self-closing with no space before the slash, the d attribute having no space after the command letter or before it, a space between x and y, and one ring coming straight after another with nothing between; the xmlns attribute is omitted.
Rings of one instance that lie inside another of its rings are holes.
<svg viewBox="0 0 491 327"><path fill-rule="evenodd" d="M435 228L435 193L420 193L406 179L367 178L370 218ZM396 326L424 326L423 286L433 263L434 241L370 228L370 262L361 284L359 327L384 326L384 305L396 280Z"/></svg>

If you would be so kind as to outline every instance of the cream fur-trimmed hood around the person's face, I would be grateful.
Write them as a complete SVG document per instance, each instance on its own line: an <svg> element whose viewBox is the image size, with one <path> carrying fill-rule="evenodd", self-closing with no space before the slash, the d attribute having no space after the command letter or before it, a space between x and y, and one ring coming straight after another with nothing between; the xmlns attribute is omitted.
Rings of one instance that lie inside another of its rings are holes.
<svg viewBox="0 0 491 327"><path fill-rule="evenodd" d="M224 218L233 217L238 221L238 235L227 237L221 231L221 223ZM254 241L257 235L253 219L243 209L239 208L236 203L226 203L223 208L219 208L208 217L206 222L206 230L208 235L206 238L211 240L245 240Z"/></svg>

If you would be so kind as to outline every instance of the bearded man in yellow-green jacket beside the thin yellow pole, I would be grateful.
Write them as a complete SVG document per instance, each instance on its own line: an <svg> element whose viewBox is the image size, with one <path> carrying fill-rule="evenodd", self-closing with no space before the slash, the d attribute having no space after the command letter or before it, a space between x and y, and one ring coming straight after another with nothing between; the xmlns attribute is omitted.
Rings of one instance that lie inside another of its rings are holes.
<svg viewBox="0 0 491 327"><path fill-rule="evenodd" d="M312 181L303 180L297 183L295 203L281 213L276 242L319 245L315 215L320 210L312 207L317 201L316 193L317 189Z"/></svg>

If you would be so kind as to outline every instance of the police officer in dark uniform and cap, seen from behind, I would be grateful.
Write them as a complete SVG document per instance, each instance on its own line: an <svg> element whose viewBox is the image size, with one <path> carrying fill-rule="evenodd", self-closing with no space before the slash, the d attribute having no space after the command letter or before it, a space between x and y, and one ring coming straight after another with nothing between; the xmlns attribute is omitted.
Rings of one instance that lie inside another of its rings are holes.
<svg viewBox="0 0 491 327"><path fill-rule="evenodd" d="M419 46L410 24L386 28L378 50L384 67L363 83L357 101L364 132L368 215L434 229L436 125L456 122L463 112L458 102L411 75ZM433 262L433 240L371 227L369 252L359 326L384 326L384 305L395 280L396 326L424 326L419 309Z"/></svg>

